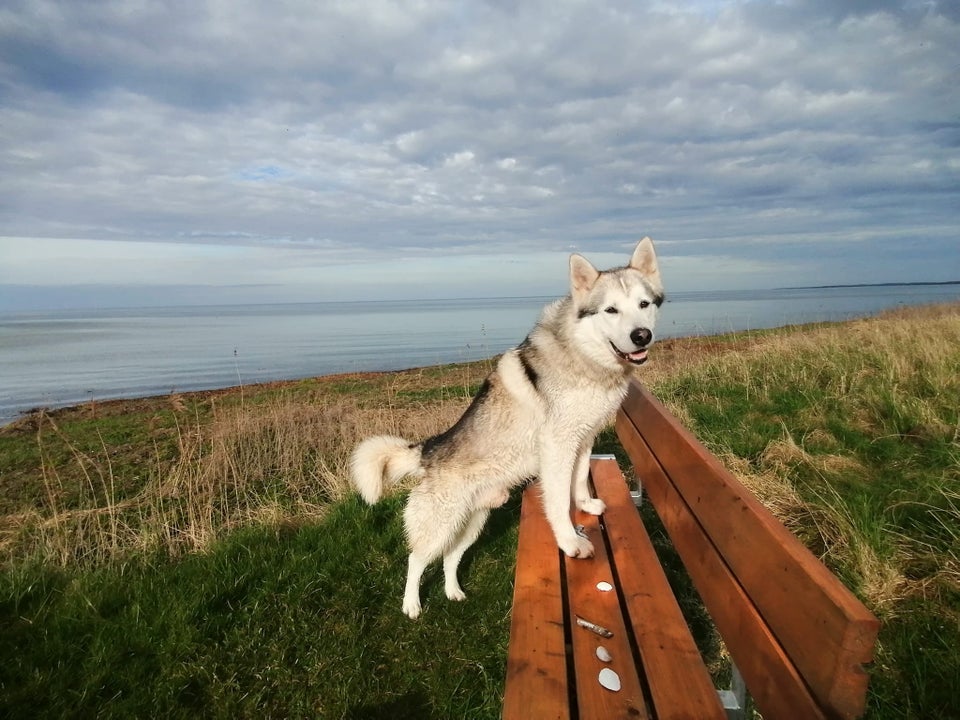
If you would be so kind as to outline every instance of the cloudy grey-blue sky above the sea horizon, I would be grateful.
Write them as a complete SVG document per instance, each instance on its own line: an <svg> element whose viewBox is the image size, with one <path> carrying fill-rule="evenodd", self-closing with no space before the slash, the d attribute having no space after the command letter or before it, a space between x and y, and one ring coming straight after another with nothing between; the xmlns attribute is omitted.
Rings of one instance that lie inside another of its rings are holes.
<svg viewBox="0 0 960 720"><path fill-rule="evenodd" d="M5 0L0 310L960 280L960 3Z"/></svg>

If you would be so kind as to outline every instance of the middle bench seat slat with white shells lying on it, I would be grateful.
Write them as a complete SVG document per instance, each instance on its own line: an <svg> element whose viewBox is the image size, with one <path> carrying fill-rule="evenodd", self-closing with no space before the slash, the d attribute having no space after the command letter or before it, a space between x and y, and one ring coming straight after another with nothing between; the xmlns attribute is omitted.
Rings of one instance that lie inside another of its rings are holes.
<svg viewBox="0 0 960 720"><path fill-rule="evenodd" d="M580 720L606 720L607 718L649 717L643 699L643 688L630 648L627 626L620 610L620 598L616 589L602 592L597 583L614 583L607 551L600 529L600 519L595 515L577 512L574 522L583 525L594 546L594 556L583 560L565 558L567 597L569 598L569 622L573 645L573 666L577 682L577 706ZM613 633L602 638L593 632L578 627L577 617L600 625ZM605 647L612 656L609 663L597 657L597 647ZM620 677L621 688L613 692L600 685L599 674L610 668ZM536 717L531 715L529 717Z"/></svg>

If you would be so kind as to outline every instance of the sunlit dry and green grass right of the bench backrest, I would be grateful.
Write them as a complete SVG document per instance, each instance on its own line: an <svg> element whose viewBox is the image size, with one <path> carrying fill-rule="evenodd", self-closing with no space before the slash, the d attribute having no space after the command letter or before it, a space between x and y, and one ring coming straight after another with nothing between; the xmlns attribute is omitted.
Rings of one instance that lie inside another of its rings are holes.
<svg viewBox="0 0 960 720"><path fill-rule="evenodd" d="M882 617L960 593L960 306L777 331L654 389Z"/></svg>

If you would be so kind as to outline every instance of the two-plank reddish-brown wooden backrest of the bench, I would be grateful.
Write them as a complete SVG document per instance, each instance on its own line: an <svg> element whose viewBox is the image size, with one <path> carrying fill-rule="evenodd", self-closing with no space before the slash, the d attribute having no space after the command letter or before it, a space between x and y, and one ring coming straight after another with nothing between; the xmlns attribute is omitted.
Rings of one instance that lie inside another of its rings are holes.
<svg viewBox="0 0 960 720"><path fill-rule="evenodd" d="M764 717L859 717L879 622L638 383L617 435Z"/></svg>

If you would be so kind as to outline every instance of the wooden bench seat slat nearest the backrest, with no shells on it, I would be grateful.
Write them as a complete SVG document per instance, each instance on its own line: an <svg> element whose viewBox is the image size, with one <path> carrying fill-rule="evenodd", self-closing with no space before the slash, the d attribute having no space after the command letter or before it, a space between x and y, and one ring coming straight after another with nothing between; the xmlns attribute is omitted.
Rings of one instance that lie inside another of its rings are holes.
<svg viewBox="0 0 960 720"><path fill-rule="evenodd" d="M673 590L615 460L593 460L620 593L658 720L725 718Z"/></svg>

